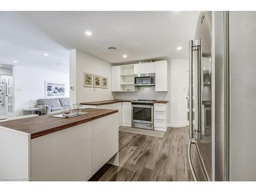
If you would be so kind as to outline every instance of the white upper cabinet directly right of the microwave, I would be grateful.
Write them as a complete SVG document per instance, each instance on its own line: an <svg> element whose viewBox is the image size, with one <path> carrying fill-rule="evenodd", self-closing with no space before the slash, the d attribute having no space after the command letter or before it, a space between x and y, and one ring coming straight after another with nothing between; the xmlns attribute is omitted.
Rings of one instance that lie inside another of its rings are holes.
<svg viewBox="0 0 256 192"><path fill-rule="evenodd" d="M167 60L155 62L155 91L168 91L168 62Z"/></svg>

